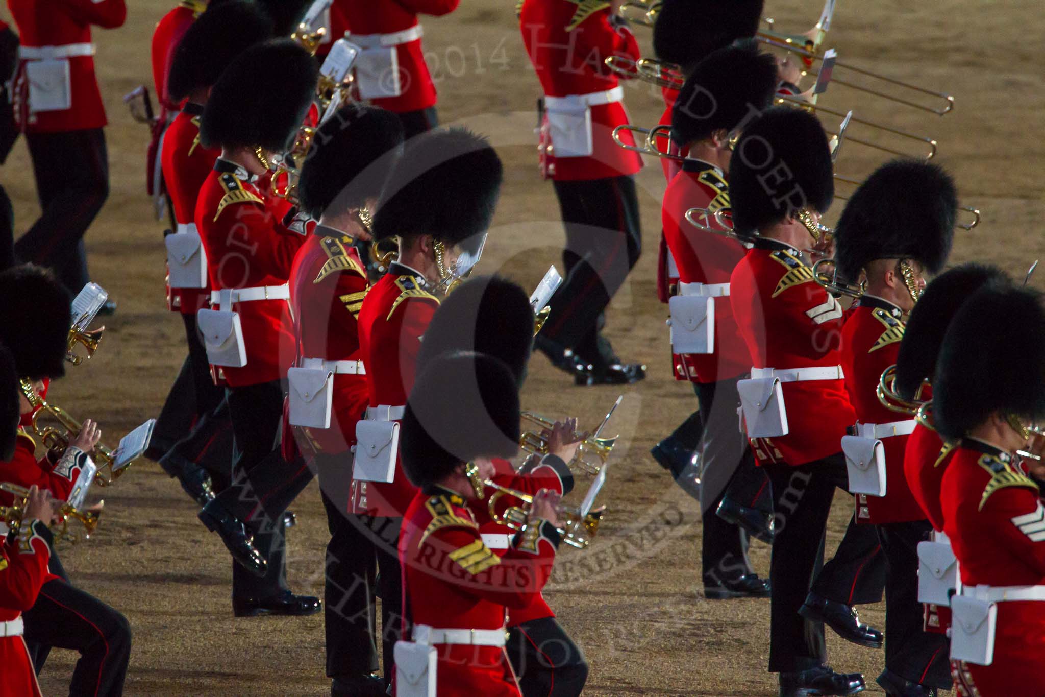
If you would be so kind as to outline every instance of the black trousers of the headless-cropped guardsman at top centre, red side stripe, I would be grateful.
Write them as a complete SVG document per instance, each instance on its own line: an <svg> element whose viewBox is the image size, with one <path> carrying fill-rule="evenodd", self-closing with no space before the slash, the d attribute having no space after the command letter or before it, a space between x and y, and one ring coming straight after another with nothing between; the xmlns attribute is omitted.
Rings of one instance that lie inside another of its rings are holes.
<svg viewBox="0 0 1045 697"><path fill-rule="evenodd" d="M589 363L612 363L617 357L600 330L606 306L642 253L635 182L556 181L555 193L566 229L565 276L541 331Z"/></svg>

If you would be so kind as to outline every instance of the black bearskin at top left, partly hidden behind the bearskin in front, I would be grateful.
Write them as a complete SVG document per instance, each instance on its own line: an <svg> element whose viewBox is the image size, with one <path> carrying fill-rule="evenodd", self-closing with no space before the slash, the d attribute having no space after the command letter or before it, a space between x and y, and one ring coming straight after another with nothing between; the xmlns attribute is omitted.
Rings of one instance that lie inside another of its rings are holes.
<svg viewBox="0 0 1045 697"><path fill-rule="evenodd" d="M181 101L217 82L232 60L273 37L272 20L247 0L209 5L175 49L167 76L171 99Z"/></svg>

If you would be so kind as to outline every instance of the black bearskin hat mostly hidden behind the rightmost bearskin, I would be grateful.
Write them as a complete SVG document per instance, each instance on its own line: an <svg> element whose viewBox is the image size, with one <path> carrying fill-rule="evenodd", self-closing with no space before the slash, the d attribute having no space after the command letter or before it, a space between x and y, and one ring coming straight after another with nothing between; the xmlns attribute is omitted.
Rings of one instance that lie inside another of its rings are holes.
<svg viewBox="0 0 1045 697"><path fill-rule="evenodd" d="M950 269L926 286L914 305L900 342L895 388L904 399L913 399L922 380L932 378L944 334L955 312L985 285L1003 285L1008 277L995 266L966 263Z"/></svg>

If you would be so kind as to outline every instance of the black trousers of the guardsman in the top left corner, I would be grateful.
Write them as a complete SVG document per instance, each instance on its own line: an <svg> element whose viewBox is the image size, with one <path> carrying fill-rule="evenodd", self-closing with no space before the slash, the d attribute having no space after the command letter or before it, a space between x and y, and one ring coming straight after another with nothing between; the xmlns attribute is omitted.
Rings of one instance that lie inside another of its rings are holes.
<svg viewBox="0 0 1045 697"><path fill-rule="evenodd" d="M15 254L54 270L73 295L90 280L84 233L109 198L109 155L101 129L25 136L37 178L40 218Z"/></svg>

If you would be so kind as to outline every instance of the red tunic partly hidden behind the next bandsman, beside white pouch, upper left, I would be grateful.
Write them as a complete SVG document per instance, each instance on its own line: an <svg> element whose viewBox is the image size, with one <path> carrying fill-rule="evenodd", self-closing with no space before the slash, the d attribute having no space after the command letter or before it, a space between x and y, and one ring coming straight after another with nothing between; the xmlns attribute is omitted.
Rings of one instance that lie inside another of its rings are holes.
<svg viewBox="0 0 1045 697"><path fill-rule="evenodd" d="M203 183L207 181L220 148L210 149L200 142L200 115L203 108L186 103L185 111L170 122L163 137L163 181L179 225L195 224L195 206ZM167 307L182 315L195 315L210 305L210 284L206 288L167 286Z"/></svg>

